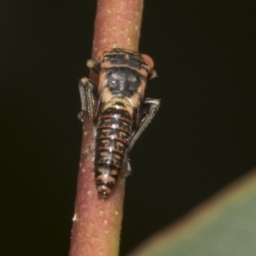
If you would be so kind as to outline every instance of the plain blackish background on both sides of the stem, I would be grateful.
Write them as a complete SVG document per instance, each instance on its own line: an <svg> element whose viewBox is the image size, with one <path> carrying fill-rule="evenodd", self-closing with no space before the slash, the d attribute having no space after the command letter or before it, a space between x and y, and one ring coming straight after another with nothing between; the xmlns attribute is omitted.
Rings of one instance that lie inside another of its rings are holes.
<svg viewBox="0 0 256 256"><path fill-rule="evenodd" d="M1 255L67 255L96 1L0 2ZM120 254L256 166L254 1L145 1L160 112L131 152Z"/></svg>

